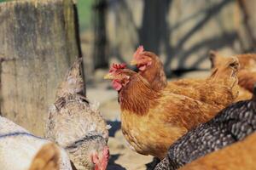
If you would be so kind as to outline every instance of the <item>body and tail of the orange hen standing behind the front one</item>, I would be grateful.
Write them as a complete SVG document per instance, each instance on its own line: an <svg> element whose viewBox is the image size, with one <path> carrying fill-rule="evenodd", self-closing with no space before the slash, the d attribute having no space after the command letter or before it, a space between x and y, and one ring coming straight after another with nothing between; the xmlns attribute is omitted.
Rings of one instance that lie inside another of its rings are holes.
<svg viewBox="0 0 256 170"><path fill-rule="evenodd" d="M252 98L252 93L249 92L247 89L242 88L241 86L236 85L232 88L232 90L230 90L229 86L224 86L221 83L217 83L217 81L214 82L214 80L211 80L211 78L208 78L207 80L189 78L180 79L177 81L169 82L167 86L169 89L172 89L172 92L174 94L189 95L193 99L199 99L204 102L214 103L216 101L223 101L224 99L224 103L222 103L224 105L229 105L230 100L233 100L233 102L237 102ZM206 88L202 88L203 86L205 86ZM212 91L213 94L207 94L207 92ZM229 92L231 92L232 94L230 95ZM237 92L238 94L236 94Z"/></svg>

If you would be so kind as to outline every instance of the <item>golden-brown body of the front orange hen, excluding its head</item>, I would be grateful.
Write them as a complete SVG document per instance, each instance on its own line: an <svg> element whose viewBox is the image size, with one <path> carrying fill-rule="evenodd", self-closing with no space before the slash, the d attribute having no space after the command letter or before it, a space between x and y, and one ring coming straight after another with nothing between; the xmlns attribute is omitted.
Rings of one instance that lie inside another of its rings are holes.
<svg viewBox="0 0 256 170"><path fill-rule="evenodd" d="M144 155L162 159L170 144L198 123L206 122L218 111L211 105L204 105L182 95L166 91L154 94L149 89L148 87L148 93L142 89L135 95L130 94L132 90L127 89L129 93L122 91L119 94L122 132L134 149ZM151 96L143 96L141 93ZM154 97L151 98L152 96ZM124 101L125 99L133 101ZM131 108L125 102L131 102Z"/></svg>

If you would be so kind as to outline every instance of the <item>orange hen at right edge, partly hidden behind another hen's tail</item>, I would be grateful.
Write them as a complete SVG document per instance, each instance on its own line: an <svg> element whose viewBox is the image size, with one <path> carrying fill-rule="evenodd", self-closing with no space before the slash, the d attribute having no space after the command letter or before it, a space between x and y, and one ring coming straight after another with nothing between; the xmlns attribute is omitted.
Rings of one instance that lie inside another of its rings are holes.
<svg viewBox="0 0 256 170"><path fill-rule="evenodd" d="M256 54L238 54L235 56L241 63L241 68L237 74L238 83L241 87L253 92L253 83L256 82ZM218 67L218 65L221 65L222 62L229 58L212 51L212 67Z"/></svg>

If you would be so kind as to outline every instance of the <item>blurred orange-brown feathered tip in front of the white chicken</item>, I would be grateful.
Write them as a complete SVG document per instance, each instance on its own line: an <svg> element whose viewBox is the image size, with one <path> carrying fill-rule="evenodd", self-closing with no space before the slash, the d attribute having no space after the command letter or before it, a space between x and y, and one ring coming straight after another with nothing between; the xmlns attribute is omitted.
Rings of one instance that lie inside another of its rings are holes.
<svg viewBox="0 0 256 170"><path fill-rule="evenodd" d="M29 170L59 170L60 152L53 144L44 144L38 154L34 157Z"/></svg>

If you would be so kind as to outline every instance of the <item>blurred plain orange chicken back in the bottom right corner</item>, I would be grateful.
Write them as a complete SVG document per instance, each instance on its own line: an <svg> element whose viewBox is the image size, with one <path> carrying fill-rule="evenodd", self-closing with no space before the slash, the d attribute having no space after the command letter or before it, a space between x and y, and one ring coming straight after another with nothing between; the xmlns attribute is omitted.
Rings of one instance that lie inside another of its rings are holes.
<svg viewBox="0 0 256 170"><path fill-rule="evenodd" d="M192 161L179 170L254 170L256 169L256 133L249 135L235 144L225 147L223 150Z"/></svg>

